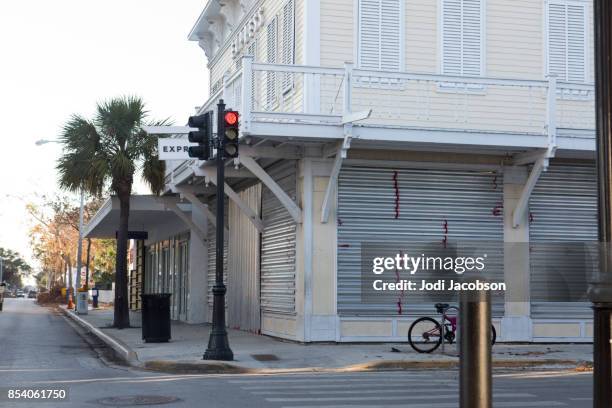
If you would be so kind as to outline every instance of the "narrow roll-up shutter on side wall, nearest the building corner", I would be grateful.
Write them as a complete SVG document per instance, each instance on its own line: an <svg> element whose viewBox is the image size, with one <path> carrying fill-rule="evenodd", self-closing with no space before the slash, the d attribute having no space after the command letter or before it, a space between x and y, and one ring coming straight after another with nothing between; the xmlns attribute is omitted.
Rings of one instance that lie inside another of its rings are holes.
<svg viewBox="0 0 612 408"><path fill-rule="evenodd" d="M297 162L287 160L266 169L291 197L296 199ZM295 314L296 225L287 209L266 186L262 192L261 311Z"/></svg>

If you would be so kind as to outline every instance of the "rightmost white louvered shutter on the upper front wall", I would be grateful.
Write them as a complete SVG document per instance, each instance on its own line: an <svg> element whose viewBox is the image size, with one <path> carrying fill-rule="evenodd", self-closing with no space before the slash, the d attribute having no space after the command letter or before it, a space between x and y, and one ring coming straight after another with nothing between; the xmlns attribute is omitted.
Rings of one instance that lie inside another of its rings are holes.
<svg viewBox="0 0 612 408"><path fill-rule="evenodd" d="M548 3L548 73L562 81L585 81L585 14L582 4Z"/></svg>

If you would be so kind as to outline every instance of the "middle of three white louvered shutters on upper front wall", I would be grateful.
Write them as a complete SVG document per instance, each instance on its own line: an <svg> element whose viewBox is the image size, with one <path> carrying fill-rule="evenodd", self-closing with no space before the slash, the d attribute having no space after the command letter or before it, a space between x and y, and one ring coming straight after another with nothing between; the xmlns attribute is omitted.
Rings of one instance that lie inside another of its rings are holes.
<svg viewBox="0 0 612 408"><path fill-rule="evenodd" d="M442 73L482 75L482 0L442 1Z"/></svg>

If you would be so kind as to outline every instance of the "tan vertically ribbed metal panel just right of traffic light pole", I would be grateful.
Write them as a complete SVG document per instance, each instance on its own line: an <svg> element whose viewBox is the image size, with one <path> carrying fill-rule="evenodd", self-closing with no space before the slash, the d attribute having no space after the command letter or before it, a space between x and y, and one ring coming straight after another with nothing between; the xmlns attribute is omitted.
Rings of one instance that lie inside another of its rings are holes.
<svg viewBox="0 0 612 408"><path fill-rule="evenodd" d="M261 214L261 184L238 194L258 215ZM229 203L228 218L227 325L259 332L259 231L233 201Z"/></svg>

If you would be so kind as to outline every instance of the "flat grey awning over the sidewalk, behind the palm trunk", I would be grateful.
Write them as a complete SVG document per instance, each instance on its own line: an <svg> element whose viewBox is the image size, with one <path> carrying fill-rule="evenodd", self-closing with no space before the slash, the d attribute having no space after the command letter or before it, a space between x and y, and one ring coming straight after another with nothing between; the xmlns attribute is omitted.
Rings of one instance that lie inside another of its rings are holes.
<svg viewBox="0 0 612 408"><path fill-rule="evenodd" d="M191 204L181 203L178 197L131 196L129 230L148 231L156 225L182 223L184 220L176 214L176 208L191 218ZM85 226L84 235L86 238L115 238L118 226L119 198L111 196ZM188 225L185 226L186 229L189 228Z"/></svg>

